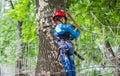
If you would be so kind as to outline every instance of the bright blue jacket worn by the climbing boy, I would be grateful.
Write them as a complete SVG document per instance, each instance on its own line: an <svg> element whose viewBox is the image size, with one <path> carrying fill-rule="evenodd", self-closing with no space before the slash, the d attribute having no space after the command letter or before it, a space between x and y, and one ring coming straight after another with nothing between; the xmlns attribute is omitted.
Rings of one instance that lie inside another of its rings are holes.
<svg viewBox="0 0 120 76"><path fill-rule="evenodd" d="M55 37L60 39L69 39L69 38L78 38L80 35L80 31L77 29L75 31L75 27L73 25L66 24L58 24L54 29Z"/></svg>

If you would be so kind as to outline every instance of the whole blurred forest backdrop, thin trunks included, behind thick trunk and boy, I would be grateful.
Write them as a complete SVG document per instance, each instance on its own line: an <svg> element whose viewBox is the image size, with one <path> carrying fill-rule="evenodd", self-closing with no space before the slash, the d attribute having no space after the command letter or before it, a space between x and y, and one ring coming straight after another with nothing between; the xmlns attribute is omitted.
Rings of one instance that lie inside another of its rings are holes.
<svg viewBox="0 0 120 76"><path fill-rule="evenodd" d="M66 9L81 27L81 36L73 41L77 52L85 58L81 61L75 57L78 74L117 76L120 71L120 0L66 2ZM0 0L1 76L7 76L8 72L3 71L3 65L16 67L18 71L35 71L39 49L36 22L34 0Z"/></svg>

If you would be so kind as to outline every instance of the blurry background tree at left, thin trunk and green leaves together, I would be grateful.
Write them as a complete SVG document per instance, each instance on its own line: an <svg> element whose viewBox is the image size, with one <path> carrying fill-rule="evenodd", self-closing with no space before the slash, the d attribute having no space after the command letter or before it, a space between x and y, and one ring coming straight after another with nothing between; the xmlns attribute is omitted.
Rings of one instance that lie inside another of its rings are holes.
<svg viewBox="0 0 120 76"><path fill-rule="evenodd" d="M5 5L7 9L0 22L0 62L13 63L17 68L16 73L21 74L25 68L30 68L28 66L32 64L28 64L29 58L35 56L37 51L34 49L36 46L29 46L37 45L35 4L32 0L9 0L5 1Z"/></svg>

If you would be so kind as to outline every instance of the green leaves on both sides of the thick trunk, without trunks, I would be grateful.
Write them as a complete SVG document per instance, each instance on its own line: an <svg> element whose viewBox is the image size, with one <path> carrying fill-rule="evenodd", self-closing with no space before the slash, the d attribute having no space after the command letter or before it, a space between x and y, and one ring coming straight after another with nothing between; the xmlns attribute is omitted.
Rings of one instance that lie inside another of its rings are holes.
<svg viewBox="0 0 120 76"><path fill-rule="evenodd" d="M74 43L75 48L85 58L85 61L80 61L76 57L77 69L101 66L103 63L111 65L110 62L103 61L103 58L106 59L103 44L105 40L109 40L112 47L120 44L120 0L66 1L68 3L67 9L81 26L81 36ZM6 9L0 18L0 63L15 63L18 57L16 52L18 47L18 21L23 21L21 41L24 45L24 57L32 59L31 57L36 56L38 51L35 1L13 0L13 4L14 9ZM113 69L81 71L81 73L91 76L93 74L102 75L105 72L113 72ZM113 76L113 74L109 74L109 76Z"/></svg>

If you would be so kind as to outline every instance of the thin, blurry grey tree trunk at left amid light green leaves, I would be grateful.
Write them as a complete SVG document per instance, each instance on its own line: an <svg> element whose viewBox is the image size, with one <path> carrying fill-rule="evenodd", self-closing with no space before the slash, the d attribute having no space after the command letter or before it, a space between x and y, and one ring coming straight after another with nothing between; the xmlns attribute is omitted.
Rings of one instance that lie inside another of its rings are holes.
<svg viewBox="0 0 120 76"><path fill-rule="evenodd" d="M12 0L9 1L12 9L14 8ZM22 46L22 24L23 21L18 21L17 29L18 29L18 59L17 59L17 74L15 76L27 76L26 74L22 74L22 60L23 60L23 46Z"/></svg>

